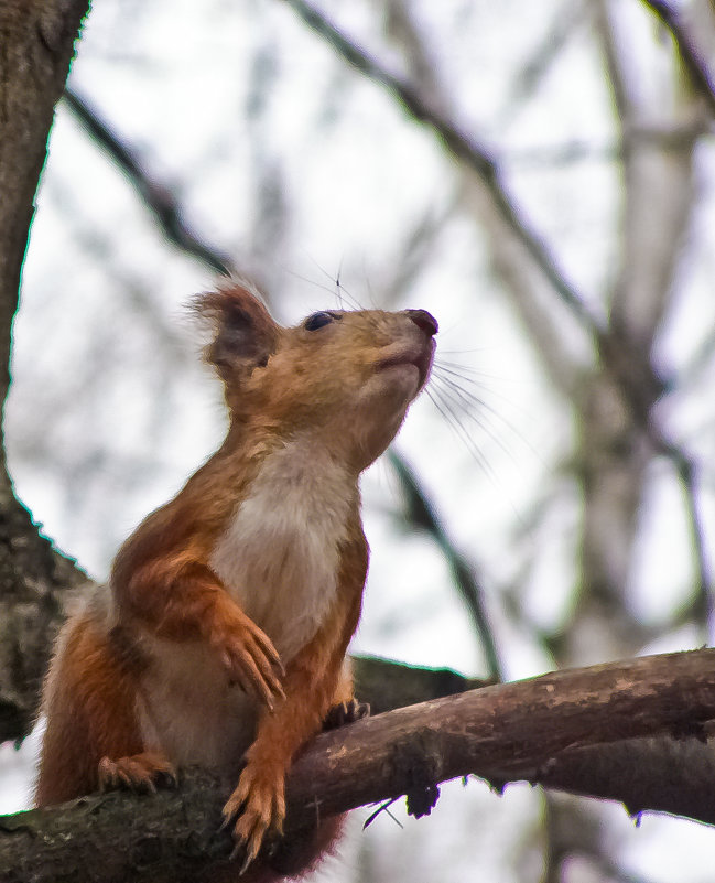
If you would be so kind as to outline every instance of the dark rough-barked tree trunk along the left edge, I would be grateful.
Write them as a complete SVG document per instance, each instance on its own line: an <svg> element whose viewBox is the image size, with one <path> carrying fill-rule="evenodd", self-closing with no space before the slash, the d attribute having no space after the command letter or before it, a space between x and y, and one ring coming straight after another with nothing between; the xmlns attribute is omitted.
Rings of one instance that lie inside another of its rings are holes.
<svg viewBox="0 0 715 883"><path fill-rule="evenodd" d="M12 319L45 161L87 0L0 3L0 399L10 386ZM29 732L63 618L63 590L85 575L40 535L15 498L0 444L0 742Z"/></svg>

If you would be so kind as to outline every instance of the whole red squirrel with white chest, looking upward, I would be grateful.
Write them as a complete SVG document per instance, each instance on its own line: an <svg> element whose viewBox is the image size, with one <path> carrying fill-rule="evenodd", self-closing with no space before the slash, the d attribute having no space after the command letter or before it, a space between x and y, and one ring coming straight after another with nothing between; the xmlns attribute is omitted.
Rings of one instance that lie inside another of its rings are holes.
<svg viewBox="0 0 715 883"><path fill-rule="evenodd" d="M198 764L245 866L285 814L295 753L354 706L345 655L368 567L358 478L425 385L424 310L279 325L248 287L196 300L230 412L219 450L120 549L64 626L44 689L39 806L153 790ZM343 704L345 703L345 704Z"/></svg>

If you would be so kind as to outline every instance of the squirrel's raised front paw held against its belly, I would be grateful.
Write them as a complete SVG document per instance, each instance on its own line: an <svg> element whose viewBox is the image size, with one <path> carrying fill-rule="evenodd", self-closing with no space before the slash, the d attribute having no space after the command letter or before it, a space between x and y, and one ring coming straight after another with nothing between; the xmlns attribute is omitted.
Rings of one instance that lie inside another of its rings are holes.
<svg viewBox="0 0 715 883"><path fill-rule="evenodd" d="M281 658L268 635L240 611L219 618L212 629L212 644L219 653L231 681L273 709L285 699Z"/></svg>

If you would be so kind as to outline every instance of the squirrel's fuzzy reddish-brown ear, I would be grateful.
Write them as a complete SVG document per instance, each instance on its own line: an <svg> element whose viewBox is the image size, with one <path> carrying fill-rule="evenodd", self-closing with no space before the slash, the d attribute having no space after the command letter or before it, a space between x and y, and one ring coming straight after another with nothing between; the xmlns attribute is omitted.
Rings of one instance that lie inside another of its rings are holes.
<svg viewBox="0 0 715 883"><path fill-rule="evenodd" d="M234 281L223 284L199 294L193 306L213 326L214 338L204 351L205 357L226 383L266 365L275 351L280 325L245 286Z"/></svg>

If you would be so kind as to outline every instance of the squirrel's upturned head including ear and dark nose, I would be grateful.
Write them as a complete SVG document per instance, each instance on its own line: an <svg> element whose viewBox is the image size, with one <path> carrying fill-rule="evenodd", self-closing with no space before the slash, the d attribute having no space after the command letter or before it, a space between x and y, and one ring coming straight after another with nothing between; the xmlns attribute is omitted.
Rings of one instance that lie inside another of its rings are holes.
<svg viewBox="0 0 715 883"><path fill-rule="evenodd" d="M283 327L235 281L195 306L213 326L205 356L232 427L307 438L357 472L392 441L429 378L437 323L424 310L326 310Z"/></svg>

